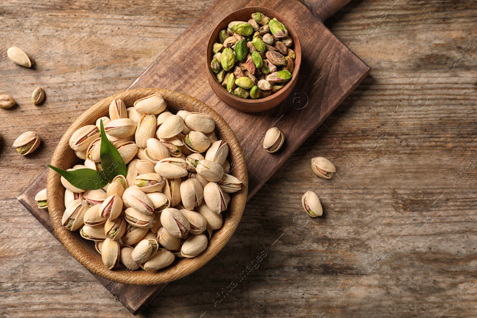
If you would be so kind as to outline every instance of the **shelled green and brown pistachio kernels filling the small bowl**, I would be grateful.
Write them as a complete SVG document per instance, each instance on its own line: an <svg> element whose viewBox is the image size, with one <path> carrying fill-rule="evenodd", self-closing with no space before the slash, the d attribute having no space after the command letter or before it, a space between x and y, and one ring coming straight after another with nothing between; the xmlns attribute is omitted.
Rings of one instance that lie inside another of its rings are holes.
<svg viewBox="0 0 477 318"><path fill-rule="evenodd" d="M232 21L218 33L210 68L228 92L240 98L270 96L290 81L295 51L287 28L260 12Z"/></svg>

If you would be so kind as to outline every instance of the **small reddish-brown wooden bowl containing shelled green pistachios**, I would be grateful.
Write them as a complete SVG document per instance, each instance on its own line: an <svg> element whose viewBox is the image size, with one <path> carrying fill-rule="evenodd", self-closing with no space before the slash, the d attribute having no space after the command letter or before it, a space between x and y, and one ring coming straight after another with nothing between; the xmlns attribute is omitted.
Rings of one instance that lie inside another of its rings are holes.
<svg viewBox="0 0 477 318"><path fill-rule="evenodd" d="M258 99L243 99L240 97L235 96L232 93L227 92L218 81L217 75L212 72L210 69L210 62L212 62L212 46L214 43L218 42L218 32L220 30L227 29L228 23L232 21L249 21L252 16L251 14L254 12L261 12L268 16L270 19L277 18L285 27L288 29L288 35L293 40L292 49L295 51L295 68L292 73L291 80L288 81L285 86L278 92L272 93L270 96L265 98L258 98ZM239 9L230 13L227 17L222 19L217 26L215 27L214 31L210 35L208 44L207 44L207 79L212 86L214 92L220 97L222 101L228 103L233 108L236 108L243 112L262 112L268 110L270 108L275 107L279 103L283 102L285 98L290 95L290 92L295 87L298 78L298 72L300 71L300 64L301 64L301 46L300 46L300 39L298 38L298 34L291 25L291 23L285 19L280 13L270 10L268 8L262 7L247 7L243 9Z"/></svg>

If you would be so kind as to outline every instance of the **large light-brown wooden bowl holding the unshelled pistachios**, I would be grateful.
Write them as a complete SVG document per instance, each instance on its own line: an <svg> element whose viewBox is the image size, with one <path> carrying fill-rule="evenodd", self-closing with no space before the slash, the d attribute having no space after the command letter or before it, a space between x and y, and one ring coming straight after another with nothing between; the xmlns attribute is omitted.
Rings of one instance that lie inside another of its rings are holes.
<svg viewBox="0 0 477 318"><path fill-rule="evenodd" d="M212 108L197 99L179 92L164 89L144 88L120 92L96 103L93 107L83 113L70 126L70 128L68 128L56 147L51 164L55 167L66 170L80 162L79 158L73 153L73 150L68 144L71 135L78 128L84 125L94 124L97 118L107 116L109 104L113 99L120 98L124 101L126 107L130 107L136 100L155 93L161 94L166 100L167 108L173 113L183 109L189 112L207 113L212 116L215 121L218 138L225 140L228 143L228 160L233 167L232 174L243 181L243 186L239 192L231 194L231 201L228 205L228 209L223 213L223 226L221 229L214 231L212 238L209 240L207 249L201 255L195 258L176 259L169 267L156 272L146 272L142 269L131 271L122 265L114 270L108 270L101 260L101 255L95 250L93 241L87 241L83 239L77 231L71 232L62 226L61 220L65 210L65 189L61 184L60 174L50 170L47 183L48 209L56 234L60 238L62 244L71 255L73 255L73 257L88 270L104 278L124 284L162 284L182 278L204 266L212 257L217 255L234 233L239 225L247 201L247 167L239 141L228 124Z"/></svg>

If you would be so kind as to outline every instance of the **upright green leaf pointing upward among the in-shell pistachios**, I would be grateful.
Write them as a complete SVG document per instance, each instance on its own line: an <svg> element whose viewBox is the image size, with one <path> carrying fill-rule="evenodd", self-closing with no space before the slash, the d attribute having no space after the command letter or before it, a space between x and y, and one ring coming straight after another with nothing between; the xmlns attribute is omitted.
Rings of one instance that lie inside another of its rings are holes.
<svg viewBox="0 0 477 318"><path fill-rule="evenodd" d="M104 132L103 120L101 120L101 148L99 149L101 157L101 166L108 179L112 181L116 175L126 176L126 164L119 151L106 137Z"/></svg>

